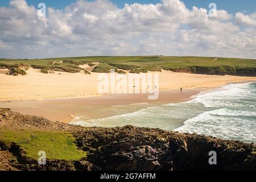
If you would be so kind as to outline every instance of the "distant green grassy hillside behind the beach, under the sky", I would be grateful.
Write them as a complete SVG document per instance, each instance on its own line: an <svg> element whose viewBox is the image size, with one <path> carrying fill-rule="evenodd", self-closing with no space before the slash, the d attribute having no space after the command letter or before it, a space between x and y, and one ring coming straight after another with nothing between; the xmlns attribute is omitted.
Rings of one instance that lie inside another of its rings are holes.
<svg viewBox="0 0 256 182"><path fill-rule="evenodd" d="M65 61L66 63L59 63ZM53 66L53 62L57 62ZM73 61L73 62L72 62ZM70 68L67 72L79 72L77 66L80 63L100 62L109 64L112 68L130 71L143 68L143 71L161 71L162 69L174 72L188 72L208 75L241 75L256 76L256 60L236 59L222 57L172 57L172 56L98 56L98 57L64 57L52 59L11 60L0 59L0 67L3 64L28 64L33 68L62 69ZM40 66L39 66L40 65ZM106 72L109 68L104 65ZM95 72L101 69L95 69ZM64 70L65 71L65 70ZM104 71L103 71L104 72Z"/></svg>

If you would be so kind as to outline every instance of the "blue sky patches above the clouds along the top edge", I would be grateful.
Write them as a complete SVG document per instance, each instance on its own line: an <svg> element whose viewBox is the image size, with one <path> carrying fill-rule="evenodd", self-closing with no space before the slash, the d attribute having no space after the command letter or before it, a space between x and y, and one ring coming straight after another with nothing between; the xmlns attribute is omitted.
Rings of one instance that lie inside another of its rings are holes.
<svg viewBox="0 0 256 182"><path fill-rule="evenodd" d="M92 1L92 0L91 0ZM9 6L10 0L1 0L0 6ZM38 3L44 2L47 6L54 7L55 9L64 9L65 6L76 2L76 0L27 0L28 5L38 5ZM119 8L122 8L125 3L159 3L160 0L112 0ZM229 13L237 13L241 11L243 13L253 13L256 11L256 1L253 0L184 0L185 5L191 9L193 6L203 7L208 9L208 5L211 2L216 3L217 9L223 9Z"/></svg>

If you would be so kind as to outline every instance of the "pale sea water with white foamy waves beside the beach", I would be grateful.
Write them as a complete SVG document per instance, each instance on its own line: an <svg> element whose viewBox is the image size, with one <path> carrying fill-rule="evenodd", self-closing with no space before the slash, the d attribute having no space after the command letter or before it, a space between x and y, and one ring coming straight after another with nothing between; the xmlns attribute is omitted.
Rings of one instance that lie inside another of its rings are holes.
<svg viewBox="0 0 256 182"><path fill-rule="evenodd" d="M147 107L114 117L90 121L81 118L74 119L76 125L157 127L256 143L256 83L229 84L202 92L187 102Z"/></svg>

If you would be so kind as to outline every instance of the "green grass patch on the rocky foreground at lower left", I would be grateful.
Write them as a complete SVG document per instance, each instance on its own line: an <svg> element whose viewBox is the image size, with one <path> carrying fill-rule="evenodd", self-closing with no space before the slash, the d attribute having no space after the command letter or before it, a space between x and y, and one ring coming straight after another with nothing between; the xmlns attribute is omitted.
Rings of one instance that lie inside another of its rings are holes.
<svg viewBox="0 0 256 182"><path fill-rule="evenodd" d="M76 146L72 134L60 131L0 130L0 141L14 142L26 152L27 158L38 160L38 152L45 151L48 160L80 160L86 153Z"/></svg>

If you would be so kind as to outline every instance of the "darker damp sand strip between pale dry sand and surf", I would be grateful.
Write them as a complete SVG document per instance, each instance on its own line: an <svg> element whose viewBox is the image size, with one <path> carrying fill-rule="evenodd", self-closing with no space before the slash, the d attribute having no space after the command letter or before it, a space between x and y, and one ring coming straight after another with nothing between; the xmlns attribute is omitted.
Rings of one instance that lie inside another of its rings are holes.
<svg viewBox="0 0 256 182"><path fill-rule="evenodd" d="M22 114L43 116L51 121L71 122L76 114L88 119L106 118L115 115L111 106L138 103L183 102L200 93L200 89L160 91L158 100L148 100L147 94L107 94L100 97L64 98L44 101L0 101L1 108L10 108ZM139 107L136 107L138 109ZM133 109L129 109L133 111ZM134 110L135 111L135 110ZM124 114L124 113L123 113Z"/></svg>

